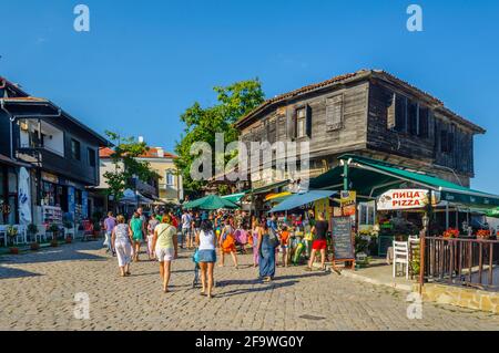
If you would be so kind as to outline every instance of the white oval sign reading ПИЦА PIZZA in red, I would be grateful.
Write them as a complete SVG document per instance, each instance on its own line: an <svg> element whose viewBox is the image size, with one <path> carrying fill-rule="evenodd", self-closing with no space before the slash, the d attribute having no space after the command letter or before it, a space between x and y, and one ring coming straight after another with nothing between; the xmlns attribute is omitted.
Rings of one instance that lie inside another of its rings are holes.
<svg viewBox="0 0 499 353"><path fill-rule="evenodd" d="M432 194L432 205L439 203L438 193ZM428 190L425 189L393 189L379 196L378 210L425 208L428 205Z"/></svg>

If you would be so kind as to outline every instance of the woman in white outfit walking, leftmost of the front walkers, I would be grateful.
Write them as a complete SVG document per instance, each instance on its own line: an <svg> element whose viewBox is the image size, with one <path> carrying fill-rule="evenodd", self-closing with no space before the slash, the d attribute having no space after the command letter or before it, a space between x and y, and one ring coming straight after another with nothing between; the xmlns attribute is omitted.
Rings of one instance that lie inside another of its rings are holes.
<svg viewBox="0 0 499 353"><path fill-rule="evenodd" d="M118 216L116 222L111 235L111 243L112 249L116 252L121 277L125 277L130 276L130 262L132 262L132 230L125 224L123 216Z"/></svg>

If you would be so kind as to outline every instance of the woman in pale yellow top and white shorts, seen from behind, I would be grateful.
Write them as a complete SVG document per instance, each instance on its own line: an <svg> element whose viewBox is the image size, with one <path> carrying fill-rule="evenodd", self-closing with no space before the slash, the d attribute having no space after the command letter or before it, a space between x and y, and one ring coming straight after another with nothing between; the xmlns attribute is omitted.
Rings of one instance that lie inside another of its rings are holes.
<svg viewBox="0 0 499 353"><path fill-rule="evenodd" d="M163 291L169 291L172 261L177 257L179 242L176 228L171 225L169 215L163 216L161 224L154 228L153 251L160 261L160 277L163 281Z"/></svg>

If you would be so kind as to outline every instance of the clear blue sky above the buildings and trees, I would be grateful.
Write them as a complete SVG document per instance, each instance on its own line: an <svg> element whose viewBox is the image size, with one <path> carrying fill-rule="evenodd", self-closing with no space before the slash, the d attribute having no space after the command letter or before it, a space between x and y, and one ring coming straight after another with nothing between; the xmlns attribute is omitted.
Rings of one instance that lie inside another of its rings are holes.
<svg viewBox="0 0 499 353"><path fill-rule="evenodd" d="M472 186L499 194L499 2L0 0L0 74L95 131L172 150L180 114L214 85L259 77L267 96L384 69L483 126ZM73 8L91 10L90 33ZM424 9L408 32L406 8Z"/></svg>

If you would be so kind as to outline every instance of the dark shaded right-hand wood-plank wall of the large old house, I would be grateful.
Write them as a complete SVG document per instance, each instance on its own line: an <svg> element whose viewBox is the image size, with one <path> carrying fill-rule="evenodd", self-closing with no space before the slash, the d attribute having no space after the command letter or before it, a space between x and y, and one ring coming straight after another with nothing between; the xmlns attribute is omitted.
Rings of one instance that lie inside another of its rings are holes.
<svg viewBox="0 0 499 353"><path fill-rule="evenodd" d="M394 93L407 96L421 107L428 108L428 131L426 136L418 136L406 126L405 131L393 128ZM447 137L442 137L444 134ZM442 148L445 139L450 142L451 150ZM444 142L442 142L444 139ZM399 156L410 160L410 165L459 183L451 170L458 175L464 185L469 185L473 177L473 133L437 112L427 102L411 96L407 92L394 91L379 82L371 82L369 89L369 113L367 148Z"/></svg>

